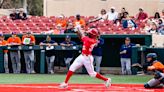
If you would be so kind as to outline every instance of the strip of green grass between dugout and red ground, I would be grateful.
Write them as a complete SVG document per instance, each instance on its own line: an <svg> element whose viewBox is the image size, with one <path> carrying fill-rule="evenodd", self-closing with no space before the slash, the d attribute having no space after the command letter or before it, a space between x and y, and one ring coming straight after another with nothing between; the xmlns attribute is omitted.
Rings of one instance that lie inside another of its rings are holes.
<svg viewBox="0 0 164 92"><path fill-rule="evenodd" d="M143 84L151 79L150 75L105 75L112 79L112 83ZM65 75L60 74L0 74L0 84L24 84L24 83L61 83ZM88 75L75 74L70 83L102 83L101 80L91 78Z"/></svg>

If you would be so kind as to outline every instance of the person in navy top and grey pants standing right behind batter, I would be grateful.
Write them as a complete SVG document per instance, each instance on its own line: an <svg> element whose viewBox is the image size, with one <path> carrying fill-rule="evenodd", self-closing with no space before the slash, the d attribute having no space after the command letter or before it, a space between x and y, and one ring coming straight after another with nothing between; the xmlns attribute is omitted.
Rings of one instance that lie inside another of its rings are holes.
<svg viewBox="0 0 164 92"><path fill-rule="evenodd" d="M96 64L96 72L100 73L100 64L102 61L102 46L104 44L104 39L99 38L99 43L94 47L92 54L94 57L94 63Z"/></svg>

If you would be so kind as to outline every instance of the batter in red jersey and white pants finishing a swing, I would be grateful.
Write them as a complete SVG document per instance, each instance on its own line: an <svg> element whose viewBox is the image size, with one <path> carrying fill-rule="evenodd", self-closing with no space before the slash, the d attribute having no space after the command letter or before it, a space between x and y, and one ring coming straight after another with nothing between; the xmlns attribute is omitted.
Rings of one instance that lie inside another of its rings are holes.
<svg viewBox="0 0 164 92"><path fill-rule="evenodd" d="M108 88L111 85L111 79L102 76L101 74L94 71L93 67L93 56L92 50L96 44L98 44L99 32L96 28L90 28L87 31L87 35L84 34L83 30L79 30L78 27L75 27L75 31L79 36L80 40L83 42L82 53L74 60L73 64L70 66L69 71L67 72L66 79L63 83L59 85L60 88L67 88L68 81L73 75L73 73L83 65L85 66L88 74L91 77L96 77L105 82L105 86Z"/></svg>

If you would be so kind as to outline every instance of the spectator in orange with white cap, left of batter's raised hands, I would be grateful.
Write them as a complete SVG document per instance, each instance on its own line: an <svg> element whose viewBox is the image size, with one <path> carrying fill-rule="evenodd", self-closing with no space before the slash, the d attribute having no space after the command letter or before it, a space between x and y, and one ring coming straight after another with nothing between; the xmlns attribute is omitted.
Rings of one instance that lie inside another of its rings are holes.
<svg viewBox="0 0 164 92"><path fill-rule="evenodd" d="M64 15L58 16L55 22L56 22L56 25L60 25L62 28L65 28L67 24L67 21L65 20Z"/></svg>

